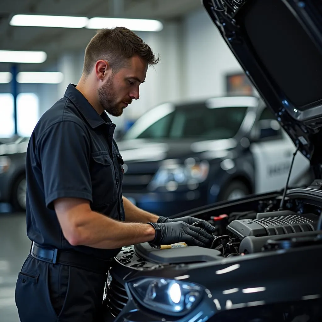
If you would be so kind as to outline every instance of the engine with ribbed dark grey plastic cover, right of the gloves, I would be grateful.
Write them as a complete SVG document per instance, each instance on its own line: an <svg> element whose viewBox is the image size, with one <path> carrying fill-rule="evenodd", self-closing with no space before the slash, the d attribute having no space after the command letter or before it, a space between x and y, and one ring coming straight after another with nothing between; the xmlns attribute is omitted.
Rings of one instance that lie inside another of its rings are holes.
<svg viewBox="0 0 322 322"><path fill-rule="evenodd" d="M235 216L244 218L234 219ZM295 247L303 238L307 244L309 240L317 242L319 216L314 213L234 213L227 217L227 225L222 220L216 221L217 218L212 218L209 222L218 232L226 234L215 236L210 248L220 251L223 257L287 249Z"/></svg>

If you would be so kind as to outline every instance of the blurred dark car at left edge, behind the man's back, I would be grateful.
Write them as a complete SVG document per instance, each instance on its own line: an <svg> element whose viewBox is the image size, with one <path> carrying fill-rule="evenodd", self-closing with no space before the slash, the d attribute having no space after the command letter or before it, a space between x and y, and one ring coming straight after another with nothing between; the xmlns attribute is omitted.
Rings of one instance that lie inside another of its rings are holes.
<svg viewBox="0 0 322 322"><path fill-rule="evenodd" d="M0 144L0 202L15 211L26 210L26 151L29 137L16 137Z"/></svg>

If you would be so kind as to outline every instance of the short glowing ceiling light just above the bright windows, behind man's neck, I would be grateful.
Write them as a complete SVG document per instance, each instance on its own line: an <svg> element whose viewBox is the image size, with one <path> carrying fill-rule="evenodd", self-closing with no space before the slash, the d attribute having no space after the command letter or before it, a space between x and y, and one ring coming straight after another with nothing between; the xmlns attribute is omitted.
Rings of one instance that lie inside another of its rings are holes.
<svg viewBox="0 0 322 322"><path fill-rule="evenodd" d="M17 75L18 83L58 84L63 79L63 73L52 71L21 71Z"/></svg>

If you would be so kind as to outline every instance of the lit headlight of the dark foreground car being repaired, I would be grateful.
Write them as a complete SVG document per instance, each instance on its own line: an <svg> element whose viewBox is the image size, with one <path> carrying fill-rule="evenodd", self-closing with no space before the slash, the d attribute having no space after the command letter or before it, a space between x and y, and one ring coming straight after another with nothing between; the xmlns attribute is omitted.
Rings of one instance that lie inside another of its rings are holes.
<svg viewBox="0 0 322 322"><path fill-rule="evenodd" d="M128 283L144 307L168 315L189 313L202 299L204 289L194 283L163 278L145 278Z"/></svg>

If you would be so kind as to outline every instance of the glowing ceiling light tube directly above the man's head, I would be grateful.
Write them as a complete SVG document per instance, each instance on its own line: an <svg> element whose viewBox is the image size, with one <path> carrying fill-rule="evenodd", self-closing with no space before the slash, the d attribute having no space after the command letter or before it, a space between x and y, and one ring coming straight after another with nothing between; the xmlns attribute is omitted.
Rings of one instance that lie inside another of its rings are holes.
<svg viewBox="0 0 322 322"><path fill-rule="evenodd" d="M89 29L126 27L135 31L161 31L163 24L158 20L126 18L91 18L86 26Z"/></svg>

